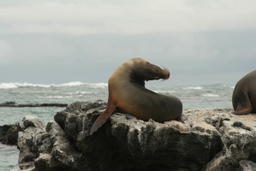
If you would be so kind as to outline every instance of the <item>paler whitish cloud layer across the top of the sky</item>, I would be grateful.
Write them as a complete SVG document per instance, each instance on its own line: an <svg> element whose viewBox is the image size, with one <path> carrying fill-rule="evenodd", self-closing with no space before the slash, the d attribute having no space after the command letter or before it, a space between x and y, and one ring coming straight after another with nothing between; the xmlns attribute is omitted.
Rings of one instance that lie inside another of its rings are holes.
<svg viewBox="0 0 256 171"><path fill-rule="evenodd" d="M1 8L6 33L136 34L254 29L252 0L25 1ZM254 5L253 5L254 4Z"/></svg>

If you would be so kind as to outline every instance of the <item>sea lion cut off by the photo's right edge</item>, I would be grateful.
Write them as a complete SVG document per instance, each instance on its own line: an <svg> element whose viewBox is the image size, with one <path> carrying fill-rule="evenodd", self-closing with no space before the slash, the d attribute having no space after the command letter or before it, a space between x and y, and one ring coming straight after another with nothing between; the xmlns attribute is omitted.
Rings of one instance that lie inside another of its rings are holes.
<svg viewBox="0 0 256 171"><path fill-rule="evenodd" d="M236 83L232 103L235 115L256 113L256 70Z"/></svg>

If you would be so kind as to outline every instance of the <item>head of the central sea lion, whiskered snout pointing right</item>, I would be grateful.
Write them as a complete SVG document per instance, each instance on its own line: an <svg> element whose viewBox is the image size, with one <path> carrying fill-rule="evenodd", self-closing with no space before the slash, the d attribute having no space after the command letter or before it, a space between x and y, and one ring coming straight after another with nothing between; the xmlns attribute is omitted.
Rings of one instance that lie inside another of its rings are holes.
<svg viewBox="0 0 256 171"><path fill-rule="evenodd" d="M131 71L130 78L133 81L141 82L147 80L167 80L170 72L166 68L159 68L142 58L133 58L130 62Z"/></svg>

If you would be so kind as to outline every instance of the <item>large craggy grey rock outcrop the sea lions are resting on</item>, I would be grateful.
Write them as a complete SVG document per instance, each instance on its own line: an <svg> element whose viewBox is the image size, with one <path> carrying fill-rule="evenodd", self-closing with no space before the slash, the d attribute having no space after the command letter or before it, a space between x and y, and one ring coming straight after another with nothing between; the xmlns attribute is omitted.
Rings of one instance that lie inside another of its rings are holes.
<svg viewBox="0 0 256 171"><path fill-rule="evenodd" d="M46 126L32 116L17 125L19 164L28 170L252 170L256 115L229 109L184 111L180 121L140 121L116 113L92 136L105 103L72 103Z"/></svg>

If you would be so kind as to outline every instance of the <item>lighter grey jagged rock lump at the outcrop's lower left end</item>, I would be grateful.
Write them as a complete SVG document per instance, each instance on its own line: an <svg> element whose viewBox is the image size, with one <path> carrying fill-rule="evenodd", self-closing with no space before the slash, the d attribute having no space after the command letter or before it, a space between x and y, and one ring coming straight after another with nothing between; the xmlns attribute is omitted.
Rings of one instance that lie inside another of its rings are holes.
<svg viewBox="0 0 256 171"><path fill-rule="evenodd" d="M68 142L55 121L45 124L37 117L26 116L17 123L21 170L77 170L81 154Z"/></svg>

